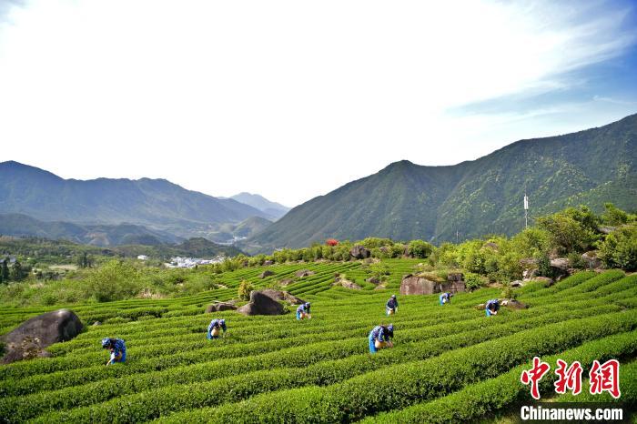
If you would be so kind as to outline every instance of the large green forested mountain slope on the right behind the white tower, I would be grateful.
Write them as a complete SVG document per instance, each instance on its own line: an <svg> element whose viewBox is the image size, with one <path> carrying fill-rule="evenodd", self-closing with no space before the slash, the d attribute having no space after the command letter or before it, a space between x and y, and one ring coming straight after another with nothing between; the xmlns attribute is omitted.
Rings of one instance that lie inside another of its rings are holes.
<svg viewBox="0 0 637 424"><path fill-rule="evenodd" d="M434 242L518 232L578 202L637 208L637 115L564 136L521 140L475 161L422 167L404 160L293 208L249 240L248 251L304 247L328 237Z"/></svg>

